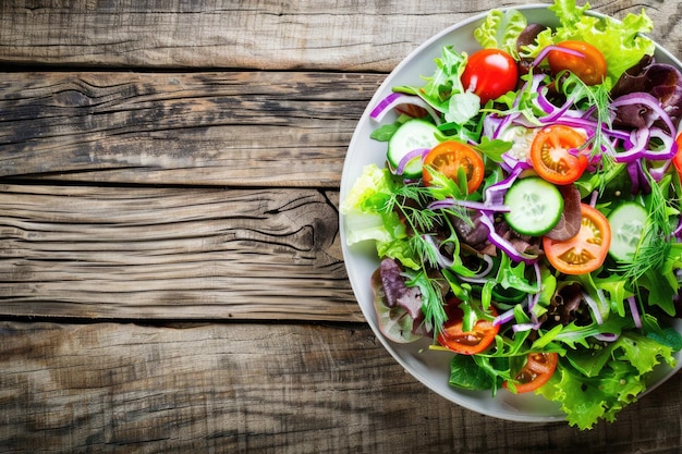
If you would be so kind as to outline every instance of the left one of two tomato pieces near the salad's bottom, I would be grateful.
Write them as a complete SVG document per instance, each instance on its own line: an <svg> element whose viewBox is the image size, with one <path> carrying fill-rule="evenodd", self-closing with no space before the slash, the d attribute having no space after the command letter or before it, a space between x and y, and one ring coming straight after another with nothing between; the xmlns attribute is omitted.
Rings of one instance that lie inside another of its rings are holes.
<svg viewBox="0 0 682 454"><path fill-rule="evenodd" d="M454 304L446 308L448 321L438 334L438 343L446 348L462 355L475 355L486 349L500 331L499 324L492 324L491 320L480 319L474 324L472 331L462 331L463 311ZM492 317L497 316L494 307L490 307Z"/></svg>

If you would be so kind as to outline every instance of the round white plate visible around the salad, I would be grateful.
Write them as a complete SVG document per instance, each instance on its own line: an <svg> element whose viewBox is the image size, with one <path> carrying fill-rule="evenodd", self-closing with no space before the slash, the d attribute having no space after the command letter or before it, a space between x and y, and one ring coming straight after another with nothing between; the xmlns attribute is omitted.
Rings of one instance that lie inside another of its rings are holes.
<svg viewBox="0 0 682 454"><path fill-rule="evenodd" d="M541 23L549 26L558 25L555 14L547 9L546 4L519 5L514 9L521 11L527 17L528 23ZM366 164L376 163L379 167L385 164L386 144L369 138L372 131L377 127L377 124L369 119L369 112L373 107L388 96L394 86L424 84L422 76L433 74L436 69L434 59L440 57L443 46L454 45L456 50L466 51L470 54L478 50L480 47L474 39L473 32L483 22L486 14L475 15L431 37L407 56L389 74L363 113L349 145L341 177L341 200L345 198L345 195ZM667 62L682 68L682 64L660 46L657 46L656 58L659 62ZM385 121L391 121L391 119L388 118ZM340 233L349 279L363 315L386 349L413 377L447 400L484 415L527 422L548 422L564 419L564 415L560 412L557 403L546 401L531 393L514 395L501 390L492 397L489 391L466 391L450 386L448 378L450 375L449 364L451 356L447 353L429 352L427 349L429 340L411 344L397 344L388 341L381 334L377 324L374 296L369 283L372 273L379 266L376 248L369 242L350 247L346 246L345 222L342 214L340 217ZM682 324L675 328L682 332ZM682 357L679 355L678 367L674 370L670 368L659 370L658 376L651 381L648 391L677 372L682 366L681 359Z"/></svg>

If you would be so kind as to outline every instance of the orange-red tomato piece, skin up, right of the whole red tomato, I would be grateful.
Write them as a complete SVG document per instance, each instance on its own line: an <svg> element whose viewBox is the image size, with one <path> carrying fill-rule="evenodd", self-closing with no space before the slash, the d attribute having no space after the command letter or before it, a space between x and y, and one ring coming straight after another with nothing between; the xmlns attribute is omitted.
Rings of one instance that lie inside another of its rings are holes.
<svg viewBox="0 0 682 454"><path fill-rule="evenodd" d="M568 70L579 76L586 85L597 85L604 82L607 64L599 49L584 41L563 41L557 46L576 50L583 56L573 56L561 50L549 51L547 61L553 74Z"/></svg>

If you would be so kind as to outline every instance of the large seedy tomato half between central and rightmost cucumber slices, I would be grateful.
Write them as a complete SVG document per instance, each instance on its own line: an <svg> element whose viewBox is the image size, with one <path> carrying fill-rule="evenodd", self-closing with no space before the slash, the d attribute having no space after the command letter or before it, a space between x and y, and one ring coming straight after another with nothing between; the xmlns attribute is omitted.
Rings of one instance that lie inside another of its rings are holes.
<svg viewBox="0 0 682 454"><path fill-rule="evenodd" d="M599 210L581 204L581 230L567 241L543 237L547 260L564 274L586 274L604 263L611 245L609 221Z"/></svg>

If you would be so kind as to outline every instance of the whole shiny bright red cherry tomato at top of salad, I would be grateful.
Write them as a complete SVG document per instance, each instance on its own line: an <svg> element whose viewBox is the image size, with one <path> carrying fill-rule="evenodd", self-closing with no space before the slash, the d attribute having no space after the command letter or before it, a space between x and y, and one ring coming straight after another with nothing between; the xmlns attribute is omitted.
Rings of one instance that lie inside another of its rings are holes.
<svg viewBox="0 0 682 454"><path fill-rule="evenodd" d="M478 95L482 105L513 90L517 82L516 62L509 53L499 49L474 52L462 74L464 89Z"/></svg>

